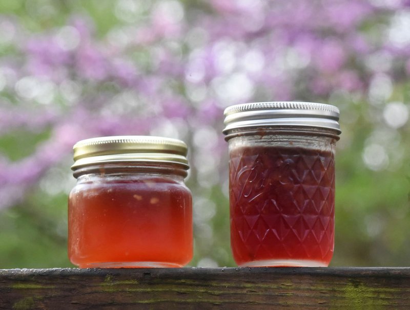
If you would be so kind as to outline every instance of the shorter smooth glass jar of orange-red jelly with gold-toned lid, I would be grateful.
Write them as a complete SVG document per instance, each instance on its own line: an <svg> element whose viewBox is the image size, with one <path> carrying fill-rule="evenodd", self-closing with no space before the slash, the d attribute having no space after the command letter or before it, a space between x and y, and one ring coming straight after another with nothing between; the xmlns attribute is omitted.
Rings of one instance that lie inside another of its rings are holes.
<svg viewBox="0 0 410 310"><path fill-rule="evenodd" d="M74 145L68 255L80 268L182 267L193 255L187 145L123 136Z"/></svg>

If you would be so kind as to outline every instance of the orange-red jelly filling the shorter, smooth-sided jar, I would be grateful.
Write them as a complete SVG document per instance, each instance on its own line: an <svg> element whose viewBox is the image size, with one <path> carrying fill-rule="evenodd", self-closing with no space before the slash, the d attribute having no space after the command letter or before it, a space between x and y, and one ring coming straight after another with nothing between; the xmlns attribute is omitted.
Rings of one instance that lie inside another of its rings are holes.
<svg viewBox="0 0 410 310"><path fill-rule="evenodd" d="M77 185L69 198L69 257L80 268L181 267L192 258L192 198L166 178Z"/></svg>

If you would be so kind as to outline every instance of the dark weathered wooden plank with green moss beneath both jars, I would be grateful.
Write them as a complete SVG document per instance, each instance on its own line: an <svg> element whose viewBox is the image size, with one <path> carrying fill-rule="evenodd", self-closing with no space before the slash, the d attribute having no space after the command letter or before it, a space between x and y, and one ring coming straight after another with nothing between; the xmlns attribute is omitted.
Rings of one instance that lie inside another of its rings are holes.
<svg viewBox="0 0 410 310"><path fill-rule="evenodd" d="M0 309L410 309L410 268L0 270Z"/></svg>

